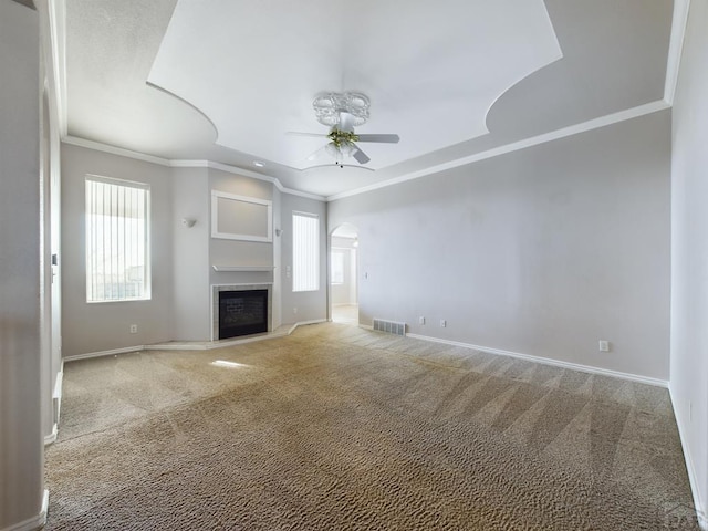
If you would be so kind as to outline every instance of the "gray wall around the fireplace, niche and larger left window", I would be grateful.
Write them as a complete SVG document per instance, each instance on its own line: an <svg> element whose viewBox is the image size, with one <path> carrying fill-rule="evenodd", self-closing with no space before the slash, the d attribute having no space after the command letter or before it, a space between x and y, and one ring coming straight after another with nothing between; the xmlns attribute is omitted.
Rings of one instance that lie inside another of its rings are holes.
<svg viewBox="0 0 708 531"><path fill-rule="evenodd" d="M148 183L152 198L153 299L85 302L84 179L86 174ZM211 190L269 199L280 222L280 195L268 181L212 168L163 165L62 145L63 353L65 356L166 341L211 339L211 284L273 282L273 325L280 324L280 279L273 272L217 272L212 266L273 266L273 243L211 238ZM196 220L185 227L183 218ZM277 250L277 251L275 251ZM278 264L275 264L278 266ZM129 325L138 333L131 334Z"/></svg>

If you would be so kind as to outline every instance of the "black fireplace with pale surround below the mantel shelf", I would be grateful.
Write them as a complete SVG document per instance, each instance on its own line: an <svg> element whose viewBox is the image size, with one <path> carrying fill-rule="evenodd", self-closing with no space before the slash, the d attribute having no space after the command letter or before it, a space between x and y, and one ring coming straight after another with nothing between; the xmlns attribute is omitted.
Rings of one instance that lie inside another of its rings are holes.
<svg viewBox="0 0 708 531"><path fill-rule="evenodd" d="M270 285L214 285L212 290L214 340L270 331Z"/></svg>

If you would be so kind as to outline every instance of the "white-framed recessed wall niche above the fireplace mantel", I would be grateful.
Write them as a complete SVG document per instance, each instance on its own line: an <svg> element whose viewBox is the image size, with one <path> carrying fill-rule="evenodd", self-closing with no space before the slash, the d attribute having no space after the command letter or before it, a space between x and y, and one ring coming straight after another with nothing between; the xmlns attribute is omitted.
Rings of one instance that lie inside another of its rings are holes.
<svg viewBox="0 0 708 531"><path fill-rule="evenodd" d="M272 201L211 190L211 238L272 242Z"/></svg>

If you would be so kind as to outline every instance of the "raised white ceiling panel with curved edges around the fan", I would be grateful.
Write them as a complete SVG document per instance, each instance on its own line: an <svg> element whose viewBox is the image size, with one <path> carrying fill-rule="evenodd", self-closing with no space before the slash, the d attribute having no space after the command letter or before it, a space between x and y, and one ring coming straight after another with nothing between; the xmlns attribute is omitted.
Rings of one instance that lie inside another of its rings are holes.
<svg viewBox="0 0 708 531"><path fill-rule="evenodd" d="M395 29L395 30L394 30ZM312 102L327 91L371 100L357 133L381 169L488 133L507 90L562 56L542 0L178 1L148 83L188 102L217 144L296 169L326 133Z"/></svg>

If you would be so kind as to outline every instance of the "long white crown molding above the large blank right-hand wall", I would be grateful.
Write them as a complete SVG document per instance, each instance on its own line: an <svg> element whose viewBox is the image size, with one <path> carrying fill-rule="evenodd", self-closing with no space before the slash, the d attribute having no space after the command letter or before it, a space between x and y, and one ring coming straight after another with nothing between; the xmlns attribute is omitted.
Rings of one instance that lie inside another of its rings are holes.
<svg viewBox="0 0 708 531"><path fill-rule="evenodd" d="M544 133L542 135L532 136L530 138L524 138L519 142L494 147L493 149L476 153L468 157L462 157L456 160L450 160L448 163L430 166L429 168L425 168L419 171L414 171L412 174L407 174L400 177L395 177L393 179L384 180L382 183L368 185L362 188L357 188L355 190L344 191L342 194L335 194L333 196L329 196L326 200L335 201L337 199L343 199L345 197L357 196L360 194L365 194L367 191L377 190L379 188L386 188L388 186L394 186L399 183L405 183L407 180L414 180L420 177L426 177L428 175L439 174L440 171L458 168L460 166L466 166L468 164L477 163L479 160L498 157L500 155L506 155L508 153L518 152L520 149L525 149L527 147L538 146L540 144L545 144L548 142L558 140L560 138L565 138L568 136L577 135L580 133L585 133L587 131L597 129L601 127L605 127L607 125L616 124L618 122L625 122L627 119L637 118L639 116L653 114L669 107L670 105L668 105L664 100L658 100L656 102L647 103L645 105L639 105L637 107L620 111L618 113L613 113L606 116L601 116L598 118L590 119L581 124L571 125L569 127L563 127L561 129L552 131L550 133Z"/></svg>

